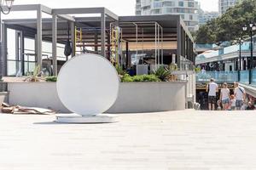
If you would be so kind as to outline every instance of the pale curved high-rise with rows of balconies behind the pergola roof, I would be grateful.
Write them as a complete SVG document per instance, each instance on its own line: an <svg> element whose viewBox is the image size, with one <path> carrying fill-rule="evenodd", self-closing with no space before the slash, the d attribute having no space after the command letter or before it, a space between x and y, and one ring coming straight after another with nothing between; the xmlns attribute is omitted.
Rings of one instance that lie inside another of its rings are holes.
<svg viewBox="0 0 256 170"><path fill-rule="evenodd" d="M136 15L179 14L189 31L198 29L199 3L195 0L137 0Z"/></svg>

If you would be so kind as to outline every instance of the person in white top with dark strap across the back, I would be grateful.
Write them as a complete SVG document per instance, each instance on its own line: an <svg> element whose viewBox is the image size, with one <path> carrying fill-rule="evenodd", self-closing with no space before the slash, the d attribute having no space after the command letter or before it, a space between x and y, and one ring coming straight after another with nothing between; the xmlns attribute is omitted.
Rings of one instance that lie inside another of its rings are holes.
<svg viewBox="0 0 256 170"><path fill-rule="evenodd" d="M247 94L245 89L239 86L238 82L235 82L234 85L235 85L234 94L236 98L236 110L240 111L241 106L243 105L243 102L245 101Z"/></svg>

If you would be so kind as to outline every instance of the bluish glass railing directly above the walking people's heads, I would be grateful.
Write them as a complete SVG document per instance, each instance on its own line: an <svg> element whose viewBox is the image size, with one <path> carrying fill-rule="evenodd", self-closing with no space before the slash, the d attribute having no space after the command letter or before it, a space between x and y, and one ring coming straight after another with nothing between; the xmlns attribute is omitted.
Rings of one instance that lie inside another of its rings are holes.
<svg viewBox="0 0 256 170"><path fill-rule="evenodd" d="M213 78L216 82L237 82L237 71L205 71L196 74L196 82L209 82Z"/></svg>

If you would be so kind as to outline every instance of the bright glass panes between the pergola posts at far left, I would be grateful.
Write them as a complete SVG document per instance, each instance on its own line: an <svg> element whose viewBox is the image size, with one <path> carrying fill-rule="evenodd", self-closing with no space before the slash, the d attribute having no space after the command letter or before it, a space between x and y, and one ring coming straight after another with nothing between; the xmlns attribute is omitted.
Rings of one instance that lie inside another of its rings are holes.
<svg viewBox="0 0 256 170"><path fill-rule="evenodd" d="M15 77L18 73L27 75L32 73L37 65L37 56L35 51L35 39L24 37L20 39L19 31L7 29L7 76ZM21 45L23 43L23 51ZM58 60L66 60L64 56L64 45L57 44ZM52 43L42 42L43 62L52 57Z"/></svg>

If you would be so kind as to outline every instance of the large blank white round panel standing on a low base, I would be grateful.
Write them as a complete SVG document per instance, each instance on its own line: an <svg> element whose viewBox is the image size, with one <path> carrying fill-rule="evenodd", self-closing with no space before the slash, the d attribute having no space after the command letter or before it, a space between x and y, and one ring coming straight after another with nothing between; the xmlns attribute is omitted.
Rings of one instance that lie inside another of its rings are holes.
<svg viewBox="0 0 256 170"><path fill-rule="evenodd" d="M96 116L108 111L117 99L119 76L108 59L82 54L61 68L57 92L69 111L81 116Z"/></svg>

